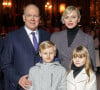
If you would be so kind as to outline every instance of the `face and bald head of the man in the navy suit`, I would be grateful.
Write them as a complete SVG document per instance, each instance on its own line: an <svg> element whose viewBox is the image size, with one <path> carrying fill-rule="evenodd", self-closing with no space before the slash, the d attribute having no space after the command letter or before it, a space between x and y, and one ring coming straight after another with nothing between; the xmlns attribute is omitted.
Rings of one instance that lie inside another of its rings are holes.
<svg viewBox="0 0 100 90"><path fill-rule="evenodd" d="M39 9L36 6L28 6L23 14L23 21L30 30L37 29L40 21Z"/></svg>

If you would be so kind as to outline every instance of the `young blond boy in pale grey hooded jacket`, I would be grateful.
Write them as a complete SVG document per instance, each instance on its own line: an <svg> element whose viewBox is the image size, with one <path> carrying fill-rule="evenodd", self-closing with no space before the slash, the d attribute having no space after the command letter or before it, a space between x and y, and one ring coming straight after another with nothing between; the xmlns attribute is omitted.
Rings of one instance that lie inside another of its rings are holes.
<svg viewBox="0 0 100 90"><path fill-rule="evenodd" d="M39 46L42 62L29 71L32 86L28 90L66 90L66 70L55 61L56 46L51 41L44 41Z"/></svg>

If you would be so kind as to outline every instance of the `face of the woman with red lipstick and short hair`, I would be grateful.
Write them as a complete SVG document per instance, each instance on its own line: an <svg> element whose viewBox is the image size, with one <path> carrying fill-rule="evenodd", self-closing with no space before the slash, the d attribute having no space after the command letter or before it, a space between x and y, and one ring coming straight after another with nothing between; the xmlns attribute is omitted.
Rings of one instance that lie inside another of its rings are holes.
<svg viewBox="0 0 100 90"><path fill-rule="evenodd" d="M72 11L64 17L63 21L67 28L73 29L80 22L80 18L76 11Z"/></svg>

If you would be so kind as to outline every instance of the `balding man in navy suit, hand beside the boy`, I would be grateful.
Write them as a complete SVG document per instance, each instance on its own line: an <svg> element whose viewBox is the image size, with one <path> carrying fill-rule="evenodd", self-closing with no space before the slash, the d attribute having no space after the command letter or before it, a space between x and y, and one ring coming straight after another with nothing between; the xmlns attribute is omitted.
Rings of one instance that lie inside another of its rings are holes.
<svg viewBox="0 0 100 90"><path fill-rule="evenodd" d="M27 5L23 14L25 26L9 33L6 37L1 57L1 67L7 79L5 90L27 89L31 85L31 81L27 79L29 68L40 59L38 49L34 48L32 32L35 33L38 45L50 38L48 32L38 29L39 14L39 8L36 5Z"/></svg>

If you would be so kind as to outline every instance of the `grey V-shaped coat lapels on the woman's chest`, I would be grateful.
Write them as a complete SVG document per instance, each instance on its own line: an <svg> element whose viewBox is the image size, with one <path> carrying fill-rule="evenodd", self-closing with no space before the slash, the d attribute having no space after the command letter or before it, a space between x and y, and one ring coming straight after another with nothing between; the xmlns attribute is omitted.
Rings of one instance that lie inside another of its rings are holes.
<svg viewBox="0 0 100 90"><path fill-rule="evenodd" d="M83 40L83 33L80 30L77 32L77 35L75 36L70 47L68 47L68 38L67 38L66 30L60 32L57 39L59 39L59 48L61 47L60 49L62 53L64 53L64 55L69 55L68 57L70 57L72 50L79 44L83 43L83 42L80 42Z"/></svg>

